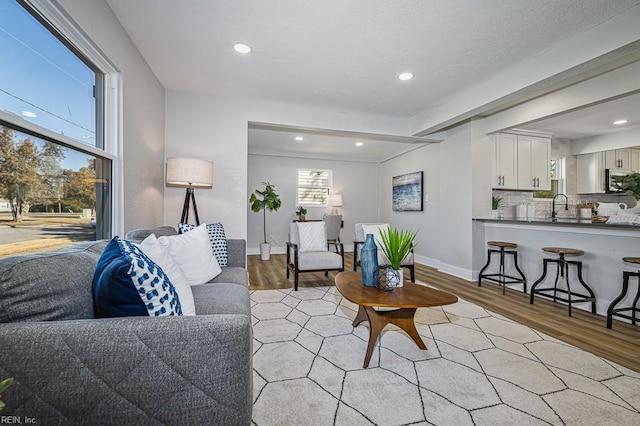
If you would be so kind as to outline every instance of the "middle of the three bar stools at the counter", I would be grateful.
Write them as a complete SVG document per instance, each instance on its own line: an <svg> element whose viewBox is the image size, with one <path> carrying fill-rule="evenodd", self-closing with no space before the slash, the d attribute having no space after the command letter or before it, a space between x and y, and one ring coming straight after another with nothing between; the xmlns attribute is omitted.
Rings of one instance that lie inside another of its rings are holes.
<svg viewBox="0 0 640 426"><path fill-rule="evenodd" d="M558 257L556 259L543 259L543 271L542 276L538 278L538 280L533 283L531 286L531 296L529 298L529 303L533 304L533 297L537 294L541 297L547 297L552 299L554 302L561 301L566 302L569 305L569 316L571 316L571 305L574 303L591 303L591 312L596 313L596 295L591 290L591 287L587 285L582 279L582 262L579 260L566 260L565 256L582 256L584 251L578 249L571 248L560 248L560 247L543 247L542 251L545 253L553 253L557 254ZM541 288L536 289L536 287L544 281L547 276L547 266L549 263L556 263L558 266L556 268L556 280L551 288ZM575 265L577 267L578 272L578 281L580 284L587 290L589 295L578 293L575 291L571 291L571 284L569 283L569 265ZM558 288L558 280L560 277L564 278L564 282L567 285L567 289ZM549 292L553 292L553 295L547 294ZM567 295L567 298L561 298L558 296L558 293L563 293Z"/></svg>

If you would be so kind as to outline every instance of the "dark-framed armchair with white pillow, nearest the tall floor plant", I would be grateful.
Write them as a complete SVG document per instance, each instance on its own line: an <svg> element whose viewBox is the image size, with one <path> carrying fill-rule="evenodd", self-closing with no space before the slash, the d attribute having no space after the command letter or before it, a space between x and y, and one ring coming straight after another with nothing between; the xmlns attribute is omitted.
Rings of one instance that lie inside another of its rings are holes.
<svg viewBox="0 0 640 426"><path fill-rule="evenodd" d="M289 225L287 242L287 279L293 272L295 291L301 272L344 271L344 248L340 242L332 242L337 253L329 250L324 222L294 222Z"/></svg>

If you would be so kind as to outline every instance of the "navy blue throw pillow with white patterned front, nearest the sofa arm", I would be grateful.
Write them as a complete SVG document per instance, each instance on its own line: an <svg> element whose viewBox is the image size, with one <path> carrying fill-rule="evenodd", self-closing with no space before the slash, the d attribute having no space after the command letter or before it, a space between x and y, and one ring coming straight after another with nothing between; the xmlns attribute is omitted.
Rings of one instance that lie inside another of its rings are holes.
<svg viewBox="0 0 640 426"><path fill-rule="evenodd" d="M96 317L182 315L175 287L142 250L114 237L93 276Z"/></svg>

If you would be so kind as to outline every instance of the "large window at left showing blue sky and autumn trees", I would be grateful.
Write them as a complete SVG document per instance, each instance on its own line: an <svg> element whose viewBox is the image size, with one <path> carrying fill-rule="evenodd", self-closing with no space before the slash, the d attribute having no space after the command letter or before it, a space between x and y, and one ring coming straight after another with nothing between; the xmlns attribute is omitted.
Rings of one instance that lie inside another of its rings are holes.
<svg viewBox="0 0 640 426"><path fill-rule="evenodd" d="M111 235L106 75L50 24L52 8L2 2L0 256Z"/></svg>

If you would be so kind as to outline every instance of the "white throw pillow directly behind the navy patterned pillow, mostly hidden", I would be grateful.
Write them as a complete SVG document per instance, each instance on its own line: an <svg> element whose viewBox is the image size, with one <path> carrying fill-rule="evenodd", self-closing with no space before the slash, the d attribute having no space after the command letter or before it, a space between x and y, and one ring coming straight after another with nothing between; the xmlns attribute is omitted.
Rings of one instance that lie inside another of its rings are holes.
<svg viewBox="0 0 640 426"><path fill-rule="evenodd" d="M173 260L167 250L160 245L156 236L154 234L149 235L144 239L144 241L138 244L138 247L156 265L161 267L164 273L169 277L169 280L178 293L180 305L182 306L182 314L195 315L196 306L193 302L193 292L191 291L189 281L176 261Z"/></svg>

